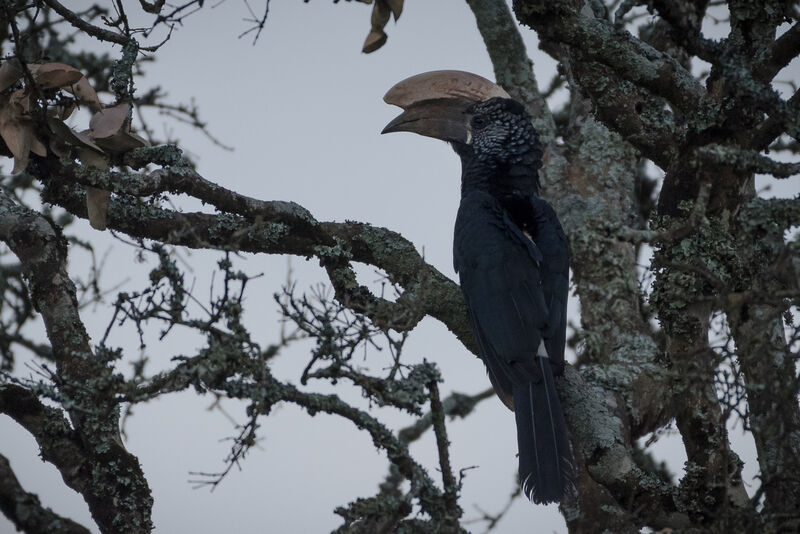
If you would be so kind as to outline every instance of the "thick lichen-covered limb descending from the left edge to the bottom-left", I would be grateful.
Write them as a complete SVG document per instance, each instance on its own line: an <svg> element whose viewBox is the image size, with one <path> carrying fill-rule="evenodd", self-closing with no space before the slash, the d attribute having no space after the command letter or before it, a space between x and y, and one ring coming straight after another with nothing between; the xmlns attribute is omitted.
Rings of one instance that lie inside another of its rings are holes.
<svg viewBox="0 0 800 534"><path fill-rule="evenodd" d="M150 488L138 460L119 440L119 415L111 392L116 378L109 362L96 357L91 350L78 314L75 285L66 271L67 250L63 235L42 215L15 203L0 190L0 240L5 241L24 270L30 273L31 300L42 315L56 359L58 394L71 407L70 417L77 432L73 439L86 444L86 448L80 449L82 454L64 461L85 462L88 473L70 479L72 472L67 474L62 469L65 482L74 484L74 489L83 495L103 533L117 532L120 525L126 525L131 533L149 532L152 527ZM17 397L21 395L9 387L3 386L0 391L6 395L9 391L16 392ZM38 400L32 402L35 400L35 397L31 399L33 393L28 394L28 402L23 407L28 408L27 415L39 414L31 424L41 425L45 419L43 413L49 412L37 405ZM43 428L43 432L47 428L50 427ZM56 428L59 441L69 434L63 421ZM38 426L33 428L37 429ZM34 436L45 437L42 432ZM44 451L45 447L40 446Z"/></svg>

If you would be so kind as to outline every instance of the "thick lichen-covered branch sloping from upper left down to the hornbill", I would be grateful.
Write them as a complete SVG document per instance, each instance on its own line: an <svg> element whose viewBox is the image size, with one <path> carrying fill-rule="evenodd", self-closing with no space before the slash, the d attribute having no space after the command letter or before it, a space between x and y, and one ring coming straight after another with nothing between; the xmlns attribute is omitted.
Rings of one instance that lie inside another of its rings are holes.
<svg viewBox="0 0 800 534"><path fill-rule="evenodd" d="M50 160L41 162L37 174L48 184L44 195L49 202L83 218L87 217L83 195L72 184L124 193L112 199L109 228L136 238L190 248L316 256L331 275L337 297L377 324L408 331L424 315L431 315L442 321L468 349L477 350L458 286L425 263L413 244L395 232L363 223L318 222L297 204L238 195L181 167L164 168L143 176L97 172ZM191 193L228 213L178 213L145 204L129 195L166 191ZM372 295L355 282L348 266L350 261L384 270L392 282L406 289L405 298L391 303ZM393 317L400 321L387 324Z"/></svg>

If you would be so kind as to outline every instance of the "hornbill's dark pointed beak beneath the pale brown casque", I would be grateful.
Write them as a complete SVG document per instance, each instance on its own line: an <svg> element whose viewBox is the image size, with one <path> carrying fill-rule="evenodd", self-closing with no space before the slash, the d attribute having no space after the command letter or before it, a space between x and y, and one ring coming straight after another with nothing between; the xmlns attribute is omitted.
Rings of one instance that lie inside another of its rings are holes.
<svg viewBox="0 0 800 534"><path fill-rule="evenodd" d="M462 98L435 98L413 102L387 124L381 133L414 132L451 143L469 143L467 109L472 104L474 102Z"/></svg>

